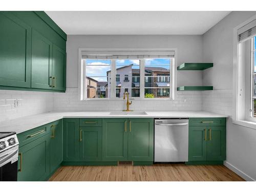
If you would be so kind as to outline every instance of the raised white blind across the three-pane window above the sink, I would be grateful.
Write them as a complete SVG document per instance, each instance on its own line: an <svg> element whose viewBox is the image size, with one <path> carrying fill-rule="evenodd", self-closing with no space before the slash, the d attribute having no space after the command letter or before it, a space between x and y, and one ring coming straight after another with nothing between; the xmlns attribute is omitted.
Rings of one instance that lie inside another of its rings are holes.
<svg viewBox="0 0 256 192"><path fill-rule="evenodd" d="M174 51L82 51L83 59L170 58Z"/></svg>

